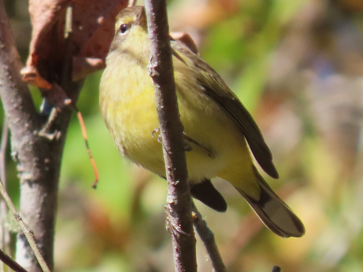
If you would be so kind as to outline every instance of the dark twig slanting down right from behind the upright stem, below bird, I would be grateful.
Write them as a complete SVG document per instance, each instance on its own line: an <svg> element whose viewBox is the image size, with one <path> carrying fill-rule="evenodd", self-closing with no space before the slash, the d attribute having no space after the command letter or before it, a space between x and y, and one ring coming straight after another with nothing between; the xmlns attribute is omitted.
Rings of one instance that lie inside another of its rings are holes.
<svg viewBox="0 0 363 272"><path fill-rule="evenodd" d="M194 202L192 209L196 213L196 220L194 221L194 227L198 235L200 236L201 240L203 241L209 257L211 258L214 270L216 272L225 272L226 268L221 258L221 255L219 254L219 250L214 240L213 232L211 231L210 228L208 228L207 223L202 218L202 215L199 213Z"/></svg>

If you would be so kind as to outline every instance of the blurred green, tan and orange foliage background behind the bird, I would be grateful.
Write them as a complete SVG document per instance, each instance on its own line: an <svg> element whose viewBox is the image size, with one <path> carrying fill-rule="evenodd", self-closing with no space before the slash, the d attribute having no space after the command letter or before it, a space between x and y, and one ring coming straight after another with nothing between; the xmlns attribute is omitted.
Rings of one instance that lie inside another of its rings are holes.
<svg viewBox="0 0 363 272"><path fill-rule="evenodd" d="M25 62L28 3L5 3ZM227 270L363 271L363 1L174 0L168 12L171 30L191 34L201 57L252 113L280 174L264 177L306 227L302 238L274 235L231 185L214 180L227 212L196 205ZM99 114L101 74L86 79L77 104L100 182L91 188L93 171L73 116L61 170L56 271L174 271L166 182L119 155ZM31 91L40 104L38 90ZM10 155L7 177L16 202ZM198 238L197 260L199 271L212 271Z"/></svg>

